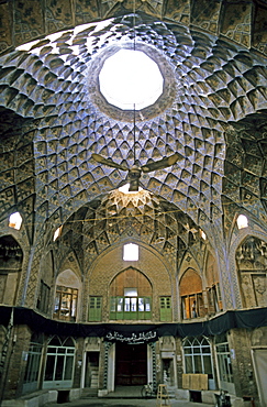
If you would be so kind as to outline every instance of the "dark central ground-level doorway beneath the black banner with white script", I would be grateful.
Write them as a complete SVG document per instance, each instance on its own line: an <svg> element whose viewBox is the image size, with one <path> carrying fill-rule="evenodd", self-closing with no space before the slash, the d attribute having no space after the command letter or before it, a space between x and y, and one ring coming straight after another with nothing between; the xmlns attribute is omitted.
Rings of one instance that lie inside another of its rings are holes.
<svg viewBox="0 0 267 407"><path fill-rule="evenodd" d="M147 345L116 343L115 385L138 386L147 384Z"/></svg>

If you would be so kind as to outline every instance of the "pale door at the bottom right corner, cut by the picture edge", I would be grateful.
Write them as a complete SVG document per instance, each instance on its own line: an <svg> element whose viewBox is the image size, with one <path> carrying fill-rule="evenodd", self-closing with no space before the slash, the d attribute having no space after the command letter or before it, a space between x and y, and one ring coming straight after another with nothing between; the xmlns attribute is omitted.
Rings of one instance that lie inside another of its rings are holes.
<svg viewBox="0 0 267 407"><path fill-rule="evenodd" d="M267 349L255 349L253 355L260 406L264 407L267 406Z"/></svg>

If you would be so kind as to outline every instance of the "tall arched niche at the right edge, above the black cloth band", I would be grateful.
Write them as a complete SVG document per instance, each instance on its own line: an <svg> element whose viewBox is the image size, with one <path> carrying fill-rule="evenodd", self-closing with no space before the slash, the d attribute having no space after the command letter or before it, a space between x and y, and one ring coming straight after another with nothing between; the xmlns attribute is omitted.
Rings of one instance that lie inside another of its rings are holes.
<svg viewBox="0 0 267 407"><path fill-rule="evenodd" d="M246 237L235 253L243 307L267 306L267 243Z"/></svg>

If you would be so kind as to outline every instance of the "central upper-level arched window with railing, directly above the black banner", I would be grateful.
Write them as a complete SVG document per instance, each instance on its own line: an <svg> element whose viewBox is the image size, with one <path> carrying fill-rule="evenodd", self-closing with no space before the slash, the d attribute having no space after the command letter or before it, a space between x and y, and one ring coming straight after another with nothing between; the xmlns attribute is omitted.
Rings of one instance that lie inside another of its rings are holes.
<svg viewBox="0 0 267 407"><path fill-rule="evenodd" d="M149 280L130 267L110 285L110 319L151 319L151 300Z"/></svg>

